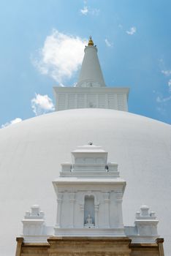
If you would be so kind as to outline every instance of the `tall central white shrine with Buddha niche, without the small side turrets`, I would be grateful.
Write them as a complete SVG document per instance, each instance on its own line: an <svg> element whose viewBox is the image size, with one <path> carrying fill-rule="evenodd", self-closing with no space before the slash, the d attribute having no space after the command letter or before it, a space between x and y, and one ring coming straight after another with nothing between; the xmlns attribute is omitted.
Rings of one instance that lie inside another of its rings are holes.
<svg viewBox="0 0 171 256"><path fill-rule="evenodd" d="M107 152L89 143L72 151L53 181L58 200L55 235L124 236L122 197L126 182ZM62 204L62 208L61 208Z"/></svg>

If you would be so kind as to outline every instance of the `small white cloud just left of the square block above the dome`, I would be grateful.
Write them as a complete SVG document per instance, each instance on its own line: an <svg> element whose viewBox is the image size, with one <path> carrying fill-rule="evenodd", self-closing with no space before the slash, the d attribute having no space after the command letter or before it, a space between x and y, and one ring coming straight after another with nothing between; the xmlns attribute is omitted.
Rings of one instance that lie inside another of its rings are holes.
<svg viewBox="0 0 171 256"><path fill-rule="evenodd" d="M31 99L31 108L36 116L55 110L52 99L41 94L35 94L35 97Z"/></svg>

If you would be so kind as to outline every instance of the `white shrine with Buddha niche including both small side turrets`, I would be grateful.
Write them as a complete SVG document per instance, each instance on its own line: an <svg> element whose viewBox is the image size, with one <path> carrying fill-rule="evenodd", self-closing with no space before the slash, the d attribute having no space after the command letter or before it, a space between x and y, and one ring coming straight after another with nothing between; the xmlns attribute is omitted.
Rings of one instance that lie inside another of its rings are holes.
<svg viewBox="0 0 171 256"><path fill-rule="evenodd" d="M46 243L57 237L124 237L133 243L155 243L158 220L148 206L141 206L134 226L124 227L122 200L126 181L120 178L118 165L107 162L101 146L88 143L72 151L72 162L61 164L60 176L53 181L57 196L54 227L45 225L39 206L26 211L23 219L25 243Z"/></svg>

